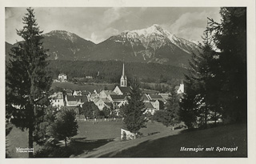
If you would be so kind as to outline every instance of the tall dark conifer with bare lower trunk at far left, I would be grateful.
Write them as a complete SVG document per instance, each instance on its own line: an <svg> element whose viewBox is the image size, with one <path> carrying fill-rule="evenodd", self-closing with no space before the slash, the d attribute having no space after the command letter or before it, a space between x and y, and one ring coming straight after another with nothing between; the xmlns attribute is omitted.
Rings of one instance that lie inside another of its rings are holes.
<svg viewBox="0 0 256 164"><path fill-rule="evenodd" d="M12 48L10 62L6 64L6 117L12 116L15 126L29 130L29 147L33 148L34 126L49 103L51 78L46 71L48 62L41 41L42 31L34 10L28 8L27 12L22 18L23 29L17 30L24 40Z"/></svg>

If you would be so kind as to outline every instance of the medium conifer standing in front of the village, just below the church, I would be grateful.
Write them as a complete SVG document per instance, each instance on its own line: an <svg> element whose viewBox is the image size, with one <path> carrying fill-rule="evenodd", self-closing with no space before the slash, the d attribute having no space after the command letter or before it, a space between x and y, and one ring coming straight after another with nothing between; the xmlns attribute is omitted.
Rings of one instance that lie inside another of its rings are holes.
<svg viewBox="0 0 256 164"><path fill-rule="evenodd" d="M137 78L131 82L131 88L130 97L127 98L128 104L123 106L122 110L127 130L136 136L138 130L146 127L145 105L142 101L142 93Z"/></svg>

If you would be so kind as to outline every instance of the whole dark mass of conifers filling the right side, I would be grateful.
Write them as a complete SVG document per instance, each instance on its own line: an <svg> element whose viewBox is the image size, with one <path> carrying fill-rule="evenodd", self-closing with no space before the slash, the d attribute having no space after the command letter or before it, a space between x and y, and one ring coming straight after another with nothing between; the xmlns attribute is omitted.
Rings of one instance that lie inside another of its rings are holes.
<svg viewBox="0 0 256 164"><path fill-rule="evenodd" d="M247 120L246 8L221 8L220 14L221 23L210 19L202 53L193 55L186 74L181 118L189 128L217 123L219 117Z"/></svg>

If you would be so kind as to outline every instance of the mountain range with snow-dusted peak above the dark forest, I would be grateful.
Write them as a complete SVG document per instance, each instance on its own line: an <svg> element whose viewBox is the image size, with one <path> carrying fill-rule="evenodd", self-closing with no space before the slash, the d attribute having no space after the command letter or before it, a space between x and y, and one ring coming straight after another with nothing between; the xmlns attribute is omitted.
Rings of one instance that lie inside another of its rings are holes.
<svg viewBox="0 0 256 164"><path fill-rule="evenodd" d="M43 37L50 60L154 62L186 68L191 54L200 52L196 43L158 25L124 31L98 44L63 30L53 30ZM12 46L6 42L6 59Z"/></svg>

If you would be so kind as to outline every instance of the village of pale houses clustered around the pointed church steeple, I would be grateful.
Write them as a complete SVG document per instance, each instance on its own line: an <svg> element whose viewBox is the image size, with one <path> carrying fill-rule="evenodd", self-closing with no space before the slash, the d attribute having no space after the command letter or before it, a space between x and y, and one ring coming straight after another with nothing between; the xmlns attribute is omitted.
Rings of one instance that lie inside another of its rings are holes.
<svg viewBox="0 0 256 164"><path fill-rule="evenodd" d="M55 82L67 82L67 75L59 74ZM64 94L63 92L55 92L50 96L50 102L57 110L65 106L66 109L74 110L77 118L85 120L88 117L79 114L78 110L85 102L94 102L98 106L98 110L113 107L115 114L119 116L120 108L128 103L127 98L131 88L127 84L128 79L125 74L125 64L123 63L120 85L115 86L114 90L94 90L91 92L89 90L70 90L64 88ZM180 86L175 86L175 90L178 95L184 94L184 84L181 83ZM145 114L154 115L159 110L164 110L169 96L170 93L142 94L146 110Z"/></svg>

